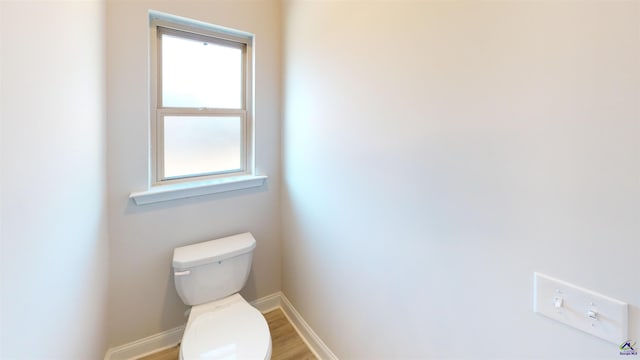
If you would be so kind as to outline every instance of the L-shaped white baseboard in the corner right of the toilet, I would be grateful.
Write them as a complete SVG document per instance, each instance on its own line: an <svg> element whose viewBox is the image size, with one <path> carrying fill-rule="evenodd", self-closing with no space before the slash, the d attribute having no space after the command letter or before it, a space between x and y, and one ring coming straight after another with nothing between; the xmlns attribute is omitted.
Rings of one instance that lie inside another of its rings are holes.
<svg viewBox="0 0 640 360"><path fill-rule="evenodd" d="M261 312L269 312L277 308L282 309L284 315L289 319L291 325L296 329L302 340L309 346L309 349L319 360L338 360L338 357L331 352L331 349L320 339L311 329L309 324L302 318L300 313L291 305L282 292L277 292L251 302L256 309Z"/></svg>

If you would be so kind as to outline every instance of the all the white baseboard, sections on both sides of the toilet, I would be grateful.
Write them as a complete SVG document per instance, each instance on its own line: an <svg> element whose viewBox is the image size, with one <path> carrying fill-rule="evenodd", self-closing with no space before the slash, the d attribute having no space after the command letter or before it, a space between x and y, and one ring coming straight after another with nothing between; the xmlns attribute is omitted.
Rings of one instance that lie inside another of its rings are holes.
<svg viewBox="0 0 640 360"><path fill-rule="evenodd" d="M282 309L282 312L289 319L293 327L296 329L302 340L309 346L309 349L320 360L338 360L324 342L311 329L309 324L302 318L300 313L291 305L289 300L282 292L267 295L258 300L252 301L256 309L263 313L275 309ZM116 346L107 351L104 360L133 360L139 357L152 354L154 352L164 350L180 343L184 326L163 331L161 333L151 335L144 339L136 340L128 344Z"/></svg>

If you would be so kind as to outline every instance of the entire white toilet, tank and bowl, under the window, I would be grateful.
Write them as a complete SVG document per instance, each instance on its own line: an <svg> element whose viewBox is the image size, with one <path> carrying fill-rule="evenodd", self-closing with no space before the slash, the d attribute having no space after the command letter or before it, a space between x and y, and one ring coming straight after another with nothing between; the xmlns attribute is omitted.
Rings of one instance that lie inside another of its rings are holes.
<svg viewBox="0 0 640 360"><path fill-rule="evenodd" d="M242 298L256 240L251 233L183 246L173 251L182 302L192 306L180 359L271 359L271 334L262 313Z"/></svg>

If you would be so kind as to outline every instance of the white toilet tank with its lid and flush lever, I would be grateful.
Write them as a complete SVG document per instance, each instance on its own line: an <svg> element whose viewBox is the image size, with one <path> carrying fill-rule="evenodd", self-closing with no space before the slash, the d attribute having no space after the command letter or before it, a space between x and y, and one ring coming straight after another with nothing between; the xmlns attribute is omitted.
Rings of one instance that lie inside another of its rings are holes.
<svg viewBox="0 0 640 360"><path fill-rule="evenodd" d="M186 305L200 305L240 291L251 270L256 240L233 235L173 250L176 290Z"/></svg>

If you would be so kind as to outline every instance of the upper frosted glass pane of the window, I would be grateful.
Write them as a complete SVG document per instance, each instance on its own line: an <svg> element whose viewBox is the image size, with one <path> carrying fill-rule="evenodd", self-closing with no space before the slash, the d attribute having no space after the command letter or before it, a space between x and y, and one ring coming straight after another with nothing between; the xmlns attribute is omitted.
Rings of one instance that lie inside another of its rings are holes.
<svg viewBox="0 0 640 360"><path fill-rule="evenodd" d="M240 109L242 49L162 34L162 106Z"/></svg>

